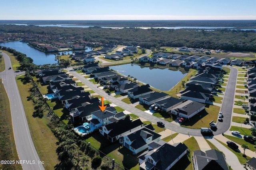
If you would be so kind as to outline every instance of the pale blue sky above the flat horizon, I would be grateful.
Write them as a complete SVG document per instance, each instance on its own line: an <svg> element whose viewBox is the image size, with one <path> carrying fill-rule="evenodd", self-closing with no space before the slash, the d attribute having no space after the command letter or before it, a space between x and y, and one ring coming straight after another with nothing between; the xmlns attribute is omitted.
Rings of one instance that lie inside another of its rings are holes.
<svg viewBox="0 0 256 170"><path fill-rule="evenodd" d="M0 20L256 20L256 0L2 0Z"/></svg>

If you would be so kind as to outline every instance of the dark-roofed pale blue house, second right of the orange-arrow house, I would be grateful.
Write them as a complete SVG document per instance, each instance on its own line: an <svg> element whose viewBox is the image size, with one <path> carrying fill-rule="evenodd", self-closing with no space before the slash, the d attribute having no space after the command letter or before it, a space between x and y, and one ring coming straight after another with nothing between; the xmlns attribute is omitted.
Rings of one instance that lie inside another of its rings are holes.
<svg viewBox="0 0 256 170"><path fill-rule="evenodd" d="M161 135L154 132L154 130L154 127L151 124L148 124L120 137L119 143L131 150L134 154L137 154L142 150L147 149L148 144L152 141L160 141Z"/></svg>

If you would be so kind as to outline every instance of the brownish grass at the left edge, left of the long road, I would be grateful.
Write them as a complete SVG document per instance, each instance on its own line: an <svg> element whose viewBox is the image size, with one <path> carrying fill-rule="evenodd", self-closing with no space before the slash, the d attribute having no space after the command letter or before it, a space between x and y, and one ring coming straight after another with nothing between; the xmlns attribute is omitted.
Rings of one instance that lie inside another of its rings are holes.
<svg viewBox="0 0 256 170"><path fill-rule="evenodd" d="M12 129L12 116L9 98L0 79L0 158L1 160L19 160ZM0 169L22 170L21 164L0 164Z"/></svg>

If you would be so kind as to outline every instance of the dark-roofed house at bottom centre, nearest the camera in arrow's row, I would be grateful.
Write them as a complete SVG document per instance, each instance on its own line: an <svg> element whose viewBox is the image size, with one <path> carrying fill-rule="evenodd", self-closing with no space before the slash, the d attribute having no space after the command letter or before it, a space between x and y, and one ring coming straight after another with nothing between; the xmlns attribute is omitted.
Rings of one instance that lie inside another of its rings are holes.
<svg viewBox="0 0 256 170"><path fill-rule="evenodd" d="M170 145L162 140L152 143L148 145L147 151L138 156L140 170L169 170L186 154L188 149L182 143Z"/></svg>

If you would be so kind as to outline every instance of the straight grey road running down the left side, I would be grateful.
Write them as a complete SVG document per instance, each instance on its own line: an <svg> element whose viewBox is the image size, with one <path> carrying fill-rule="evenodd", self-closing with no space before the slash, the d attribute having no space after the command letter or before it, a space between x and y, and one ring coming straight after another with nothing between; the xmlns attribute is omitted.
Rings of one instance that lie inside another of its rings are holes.
<svg viewBox="0 0 256 170"><path fill-rule="evenodd" d="M18 86L16 84L15 76L18 73L14 72L12 69L8 69L9 67L12 67L10 58L5 53L1 54L4 57L6 70L0 73L0 77L3 78L4 87L10 100L10 116L12 116L16 149L20 160L24 161L22 162L22 168L24 170L44 170L43 165L38 164L40 158L36 152L30 135L25 111L18 91Z"/></svg>

